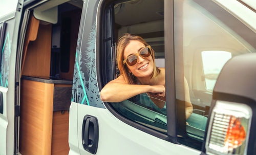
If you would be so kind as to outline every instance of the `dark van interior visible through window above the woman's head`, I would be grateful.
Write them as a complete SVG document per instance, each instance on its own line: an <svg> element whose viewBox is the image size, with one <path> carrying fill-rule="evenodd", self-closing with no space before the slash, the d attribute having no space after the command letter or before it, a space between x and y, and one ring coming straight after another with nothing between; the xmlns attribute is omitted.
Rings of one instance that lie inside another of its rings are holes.
<svg viewBox="0 0 256 155"><path fill-rule="evenodd" d="M141 36L155 51L157 67L164 67L164 1L131 1L115 9L116 41L124 33Z"/></svg>

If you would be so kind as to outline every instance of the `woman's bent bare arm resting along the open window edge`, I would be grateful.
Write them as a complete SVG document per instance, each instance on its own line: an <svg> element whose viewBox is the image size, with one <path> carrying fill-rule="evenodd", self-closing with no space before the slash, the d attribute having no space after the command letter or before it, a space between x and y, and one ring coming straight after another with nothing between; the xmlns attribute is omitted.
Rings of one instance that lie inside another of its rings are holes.
<svg viewBox="0 0 256 155"><path fill-rule="evenodd" d="M103 102L121 102L147 92L164 96L165 87L163 85L128 84L125 82L124 77L120 75L102 88L100 91L100 99Z"/></svg>

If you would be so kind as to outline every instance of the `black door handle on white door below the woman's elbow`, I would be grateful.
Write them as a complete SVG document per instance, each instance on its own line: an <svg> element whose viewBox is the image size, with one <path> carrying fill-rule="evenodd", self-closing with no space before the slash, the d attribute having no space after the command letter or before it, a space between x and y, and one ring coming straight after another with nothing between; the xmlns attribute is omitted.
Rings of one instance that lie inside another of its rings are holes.
<svg viewBox="0 0 256 155"><path fill-rule="evenodd" d="M82 123L82 146L90 153L96 154L99 141L98 119L94 116L86 115Z"/></svg>

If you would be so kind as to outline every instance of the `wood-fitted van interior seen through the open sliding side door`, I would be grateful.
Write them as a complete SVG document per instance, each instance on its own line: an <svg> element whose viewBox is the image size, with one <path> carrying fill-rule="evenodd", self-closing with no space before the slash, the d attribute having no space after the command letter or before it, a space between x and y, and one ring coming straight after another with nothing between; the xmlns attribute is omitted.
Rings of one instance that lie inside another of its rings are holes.
<svg viewBox="0 0 256 155"><path fill-rule="evenodd" d="M68 154L69 107L82 1L30 10L20 70L21 154Z"/></svg>

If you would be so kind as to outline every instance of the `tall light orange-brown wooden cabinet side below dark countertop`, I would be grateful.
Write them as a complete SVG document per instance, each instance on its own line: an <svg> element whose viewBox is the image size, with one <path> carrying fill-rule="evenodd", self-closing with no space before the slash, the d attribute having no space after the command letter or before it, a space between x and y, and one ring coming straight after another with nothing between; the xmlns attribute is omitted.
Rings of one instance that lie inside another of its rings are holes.
<svg viewBox="0 0 256 155"><path fill-rule="evenodd" d="M51 154L53 83L22 80L20 85L19 151Z"/></svg>

